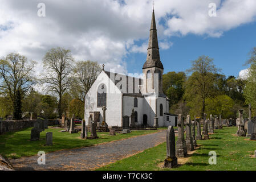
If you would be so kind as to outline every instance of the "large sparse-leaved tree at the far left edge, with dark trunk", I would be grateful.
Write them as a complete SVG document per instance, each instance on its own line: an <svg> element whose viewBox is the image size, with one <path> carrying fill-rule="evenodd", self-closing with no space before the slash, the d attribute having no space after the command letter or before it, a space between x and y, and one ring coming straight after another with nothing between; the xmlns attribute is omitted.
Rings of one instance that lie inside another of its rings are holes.
<svg viewBox="0 0 256 182"><path fill-rule="evenodd" d="M0 94L10 97L15 119L21 118L22 96L36 83L32 76L34 65L34 61L18 53L10 53L0 60Z"/></svg>

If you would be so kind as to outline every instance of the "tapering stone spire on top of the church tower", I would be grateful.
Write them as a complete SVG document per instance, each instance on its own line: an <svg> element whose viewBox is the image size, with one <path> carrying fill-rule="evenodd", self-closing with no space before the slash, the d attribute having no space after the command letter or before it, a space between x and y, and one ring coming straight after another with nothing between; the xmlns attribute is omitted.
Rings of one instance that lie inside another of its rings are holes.
<svg viewBox="0 0 256 182"><path fill-rule="evenodd" d="M155 10L153 10L153 13L152 13L151 30L150 30L149 42L148 42L148 55L147 55L147 61L143 65L143 69L152 68L152 67L164 69L160 61L160 55L159 55L159 43L157 40Z"/></svg>

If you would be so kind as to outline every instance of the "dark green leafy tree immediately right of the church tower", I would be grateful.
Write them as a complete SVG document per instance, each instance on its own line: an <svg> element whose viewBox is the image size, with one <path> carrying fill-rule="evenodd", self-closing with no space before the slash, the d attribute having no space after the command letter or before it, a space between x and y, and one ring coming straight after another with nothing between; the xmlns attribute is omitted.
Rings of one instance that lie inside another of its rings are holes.
<svg viewBox="0 0 256 182"><path fill-rule="evenodd" d="M168 72L162 76L163 92L169 98L170 106L177 104L182 99L185 79L184 72Z"/></svg>

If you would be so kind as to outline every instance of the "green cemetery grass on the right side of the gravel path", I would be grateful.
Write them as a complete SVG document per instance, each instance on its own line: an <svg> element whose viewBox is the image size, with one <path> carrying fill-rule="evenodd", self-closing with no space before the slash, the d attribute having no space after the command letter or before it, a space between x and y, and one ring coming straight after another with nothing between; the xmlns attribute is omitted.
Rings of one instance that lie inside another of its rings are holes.
<svg viewBox="0 0 256 182"><path fill-rule="evenodd" d="M255 171L256 141L247 140L246 137L236 137L237 127L224 127L215 130L209 135L210 140L197 140L200 147L189 156L188 162L178 168L163 168L166 158L166 143L149 148L140 154L119 160L116 163L97 170L109 171ZM177 137L176 137L177 141ZM209 164L209 152L216 151L217 165Z"/></svg>

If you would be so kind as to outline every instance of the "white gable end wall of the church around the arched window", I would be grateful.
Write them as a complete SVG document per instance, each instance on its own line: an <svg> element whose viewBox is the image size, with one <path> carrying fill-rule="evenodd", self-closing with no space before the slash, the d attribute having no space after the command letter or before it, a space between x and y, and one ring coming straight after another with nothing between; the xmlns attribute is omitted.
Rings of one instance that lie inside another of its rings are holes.
<svg viewBox="0 0 256 182"><path fill-rule="evenodd" d="M86 120L86 125L88 125L88 118L90 117L89 113L92 111L100 112L100 122L102 122L103 110L101 107L97 107L97 89L99 85L103 83L107 87L106 122L108 126L121 127L121 92L105 72L100 73L86 95L84 106L84 119Z"/></svg>

